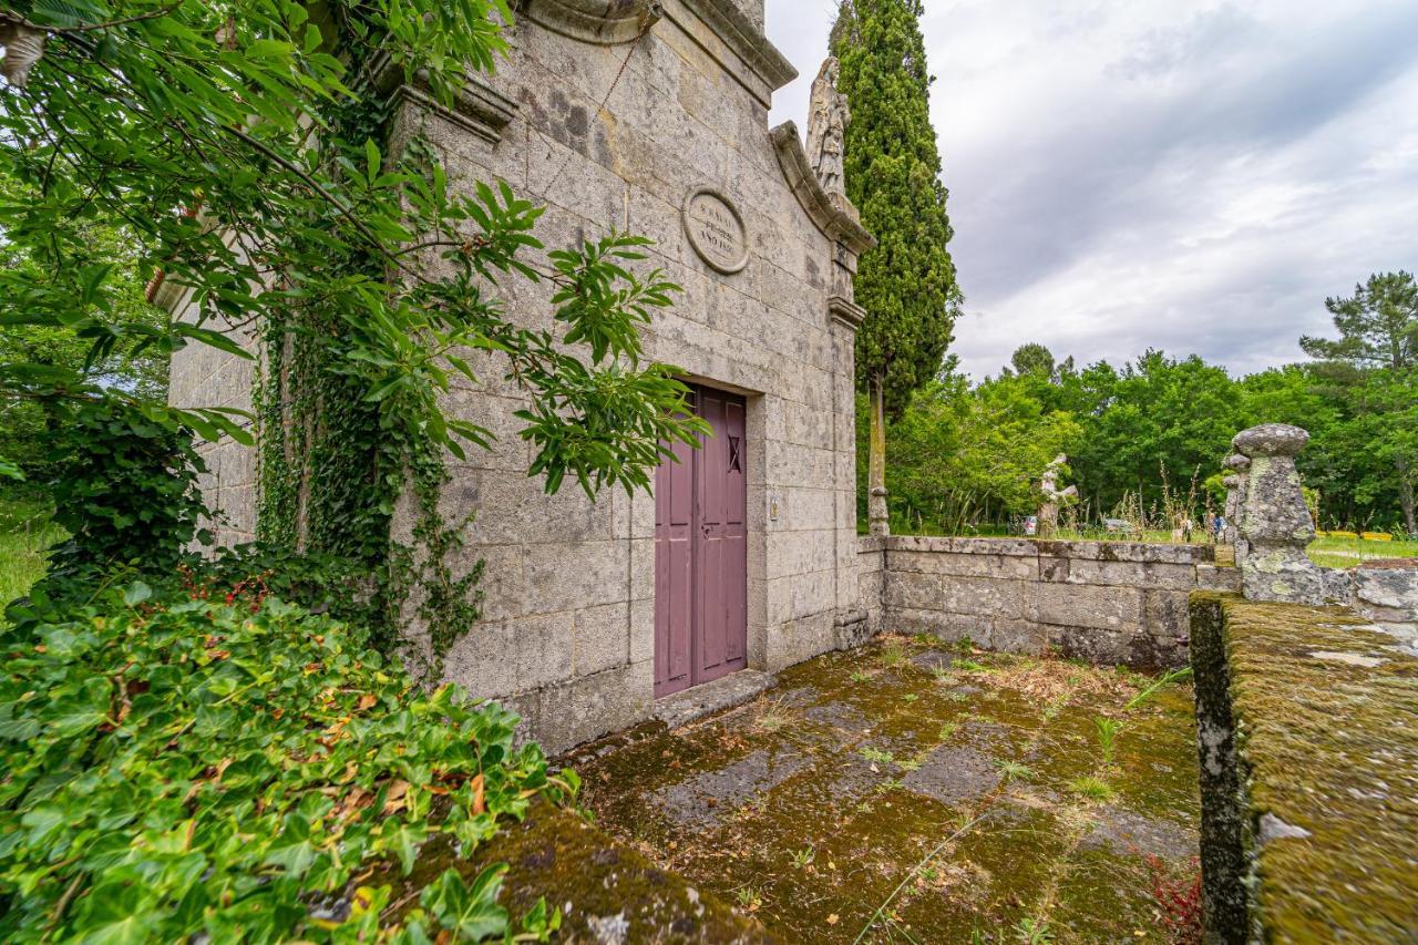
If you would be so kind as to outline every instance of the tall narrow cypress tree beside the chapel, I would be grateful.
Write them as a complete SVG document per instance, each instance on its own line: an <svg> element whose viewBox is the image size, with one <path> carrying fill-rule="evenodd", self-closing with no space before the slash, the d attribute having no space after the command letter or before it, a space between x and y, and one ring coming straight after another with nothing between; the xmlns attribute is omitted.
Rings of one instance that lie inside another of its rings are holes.
<svg viewBox="0 0 1418 945"><path fill-rule="evenodd" d="M930 126L922 0L841 0L832 26L838 88L852 121L847 196L878 245L861 258L856 385L871 394L869 487L873 529L885 525L886 416L898 416L940 370L960 309L953 231Z"/></svg>

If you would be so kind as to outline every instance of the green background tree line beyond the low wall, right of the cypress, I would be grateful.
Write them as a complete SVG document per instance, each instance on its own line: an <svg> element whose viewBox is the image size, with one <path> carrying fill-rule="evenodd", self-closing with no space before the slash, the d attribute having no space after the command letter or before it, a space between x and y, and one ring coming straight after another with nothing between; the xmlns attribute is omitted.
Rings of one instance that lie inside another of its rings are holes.
<svg viewBox="0 0 1418 945"><path fill-rule="evenodd" d="M1185 495L1193 481L1200 512L1207 495L1219 505L1236 431L1293 423L1310 431L1299 465L1319 492L1322 524L1414 534L1418 284L1408 272L1374 275L1326 306L1339 338L1300 339L1316 360L1242 377L1161 350L1078 368L1031 343L971 385L950 358L891 424L892 518L949 532L1031 514L1058 453L1069 457L1085 521L1127 494L1159 505L1164 488Z"/></svg>

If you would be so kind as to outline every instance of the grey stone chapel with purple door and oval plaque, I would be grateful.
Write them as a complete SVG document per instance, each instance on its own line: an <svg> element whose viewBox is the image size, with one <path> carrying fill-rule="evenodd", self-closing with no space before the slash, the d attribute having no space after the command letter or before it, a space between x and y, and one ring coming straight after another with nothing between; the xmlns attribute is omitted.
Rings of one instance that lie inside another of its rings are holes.
<svg viewBox="0 0 1418 945"><path fill-rule="evenodd" d="M454 108L390 81L393 133L421 133L451 180L505 180L543 204L547 248L611 227L651 237L647 267L685 291L644 331L645 356L683 369L713 429L659 468L652 495L591 502L574 488L546 497L526 477L520 394L501 372L445 404L498 434L451 467L444 491L452 511L476 509L461 565L486 562L484 617L445 674L506 702L527 736L559 751L693 687L865 636L852 274L872 237L824 190L798 129L769 128L773 92L797 72L763 34L763 0L516 9L508 60L469 77ZM503 291L515 318L552 311L547 285ZM242 406L250 370L189 349L172 400ZM252 451L227 443L207 458L223 541L248 541Z"/></svg>

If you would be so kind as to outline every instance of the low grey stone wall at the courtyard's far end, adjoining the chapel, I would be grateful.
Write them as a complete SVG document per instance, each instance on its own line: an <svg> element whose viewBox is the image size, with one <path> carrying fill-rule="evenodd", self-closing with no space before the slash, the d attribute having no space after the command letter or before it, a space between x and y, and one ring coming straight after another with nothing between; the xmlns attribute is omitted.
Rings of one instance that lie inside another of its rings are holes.
<svg viewBox="0 0 1418 945"><path fill-rule="evenodd" d="M1139 668L1187 661L1187 597L1234 589L1208 545L1024 538L864 538L875 629ZM879 559L879 565L876 563Z"/></svg>

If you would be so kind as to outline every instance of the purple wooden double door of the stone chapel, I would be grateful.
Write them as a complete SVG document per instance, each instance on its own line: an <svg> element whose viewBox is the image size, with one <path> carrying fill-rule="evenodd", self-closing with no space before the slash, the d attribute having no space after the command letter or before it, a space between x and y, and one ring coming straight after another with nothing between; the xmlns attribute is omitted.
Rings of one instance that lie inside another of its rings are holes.
<svg viewBox="0 0 1418 945"><path fill-rule="evenodd" d="M749 641L743 397L693 387L712 427L655 471L655 695L742 670Z"/></svg>

